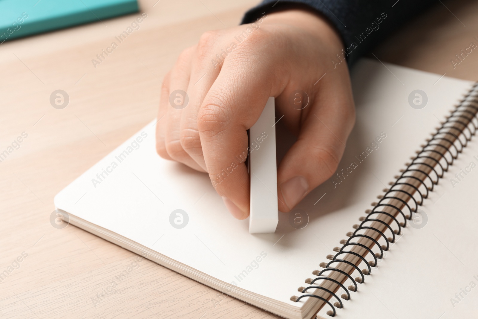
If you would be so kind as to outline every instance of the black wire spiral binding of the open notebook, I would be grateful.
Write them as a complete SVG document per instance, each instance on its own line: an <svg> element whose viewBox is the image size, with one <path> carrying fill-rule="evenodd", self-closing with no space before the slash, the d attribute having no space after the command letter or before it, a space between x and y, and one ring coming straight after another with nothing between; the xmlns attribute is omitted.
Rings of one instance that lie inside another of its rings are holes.
<svg viewBox="0 0 478 319"><path fill-rule="evenodd" d="M316 281L319 280L331 281L337 284L337 286L341 287L346 292L345 294L341 295L341 297L345 300L349 300L350 293L348 292L348 290L355 292L358 290L357 283L364 283L364 275L370 275L371 267L377 266L378 259L383 258L383 252L388 251L390 248L390 243L395 242L395 235L400 235L402 233L402 228L405 228L407 226L407 219L412 219L413 212L416 212L418 207L423 204L424 199L428 198L429 192L433 191L434 186L438 184L439 179L443 177L446 171L448 171L449 166L453 165L453 161L458 157L458 154L463 151L463 149L467 146L467 143L475 135L478 129L478 121L477 123L475 123L474 120L477 120L477 115L478 83L475 83L475 85L473 85L473 87L469 90L468 94L465 95L465 97L456 106L456 109L451 111L451 115L446 118L446 121L442 122L442 126L437 128L436 132L432 134L432 137L430 139L426 140L427 143L425 145L421 145L422 150L416 152L416 156L410 158L412 162L406 163L405 165L407 167L405 169L400 170L402 174L394 176L396 178L395 182L389 183L391 187L389 189L385 188L383 190L385 194L383 196L378 197L380 198L380 201L378 203L372 203L374 208L371 210L367 209L365 211L368 215L359 219L361 221L359 225L354 225L355 231L347 233L347 236L349 237L348 240L340 241L340 243L343 244L342 248L334 248L334 251L337 251L337 254L327 256L328 259L331 259L328 264L320 264L320 266L325 269L320 272L318 270L315 270L313 272L313 275L316 275L318 277L316 277L315 279L308 278L305 282L313 285ZM472 127L470 128L470 126ZM430 165L428 163L425 163L424 161L426 160L432 161L435 164ZM430 169L430 172L426 173L422 169L424 167L428 167ZM416 174L418 176L410 174ZM423 177L423 179L420 177ZM408 187L408 191L407 189L403 189L402 186ZM398 187L401 188L397 189ZM413 189L413 191L410 191L411 189ZM399 198L399 194L405 194L408 199L403 200L402 198ZM418 198L416 195L418 195ZM399 202L401 202L403 204L403 208L406 207L406 211L404 212L400 207L391 204L390 200L398 200ZM409 204L410 201L413 202L413 206ZM400 222L396 216L383 211L383 209L386 207L394 209L396 212L395 215L401 215L403 221ZM371 218L372 215L375 216ZM391 223L396 224L398 226L398 230L393 230L391 224L388 224L385 221L378 219L379 215L389 217L391 219ZM368 222L379 222L383 224L386 227L386 231L391 232L392 237L387 237L383 231L380 231L372 226L364 226L364 224ZM368 235L358 233L362 230L375 231L377 233L377 236L380 235L380 238L383 238L385 240L386 244L380 245L378 240ZM359 242L352 242L354 239L357 238L367 238L368 240L373 242L373 246L377 246L380 249L380 253L373 253L372 249L367 247L366 245L363 245ZM349 246L359 246L365 249L366 251L368 251L368 253L370 253L371 256L373 256L374 260L367 262L364 256L360 255L359 253L347 250L346 247ZM344 259L337 258L338 256L343 254L351 254L356 257L359 257L362 262L367 265L367 269L363 269L360 271L360 268L356 264L353 264ZM356 277L354 279L345 271L331 267L332 264L337 263L352 266L359 272L360 277ZM345 275L347 277L346 280L350 280L352 282L352 285L348 286L347 290L346 287L337 280L329 278L327 276L322 276L325 272L337 272L342 275ZM329 296L325 298L313 294L305 294L300 297L293 296L291 297L291 300L298 302L304 297L314 297L320 299L326 302L332 308L332 310L327 311L327 314L331 317L334 317L336 315L336 307L343 308L343 303L337 297L337 295L333 291L325 287L299 287L298 291L305 293L309 289L320 289L326 291ZM332 305L332 303L328 301L328 299L331 297L335 297L338 302Z"/></svg>

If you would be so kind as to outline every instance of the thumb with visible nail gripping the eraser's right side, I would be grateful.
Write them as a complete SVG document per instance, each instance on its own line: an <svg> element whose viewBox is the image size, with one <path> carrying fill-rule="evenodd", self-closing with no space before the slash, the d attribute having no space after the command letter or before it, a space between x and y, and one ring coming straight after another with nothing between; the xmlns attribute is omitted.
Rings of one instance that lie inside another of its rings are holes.
<svg viewBox="0 0 478 319"><path fill-rule="evenodd" d="M277 185L281 211L293 209L337 169L355 121L352 92L346 77L336 75L322 83L297 142L279 165Z"/></svg>

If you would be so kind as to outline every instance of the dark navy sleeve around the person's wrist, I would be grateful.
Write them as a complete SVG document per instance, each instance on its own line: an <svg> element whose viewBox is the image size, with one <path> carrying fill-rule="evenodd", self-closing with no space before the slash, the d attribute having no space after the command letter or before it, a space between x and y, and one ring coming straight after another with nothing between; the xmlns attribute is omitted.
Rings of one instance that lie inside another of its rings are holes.
<svg viewBox="0 0 478 319"><path fill-rule="evenodd" d="M351 66L390 33L436 0L264 0L244 15L242 23L291 8L311 10L335 26L344 44L340 53Z"/></svg>

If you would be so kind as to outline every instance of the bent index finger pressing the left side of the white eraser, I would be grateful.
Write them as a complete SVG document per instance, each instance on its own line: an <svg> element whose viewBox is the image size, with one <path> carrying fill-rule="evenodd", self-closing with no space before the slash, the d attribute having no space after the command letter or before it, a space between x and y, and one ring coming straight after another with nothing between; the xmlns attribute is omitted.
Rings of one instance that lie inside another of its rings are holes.
<svg viewBox="0 0 478 319"><path fill-rule="evenodd" d="M242 68L248 72L239 72ZM270 71L256 59L226 60L198 113L209 177L238 219L249 216L250 181L244 164L248 155L246 130L257 121L274 85L277 86L271 77Z"/></svg>

